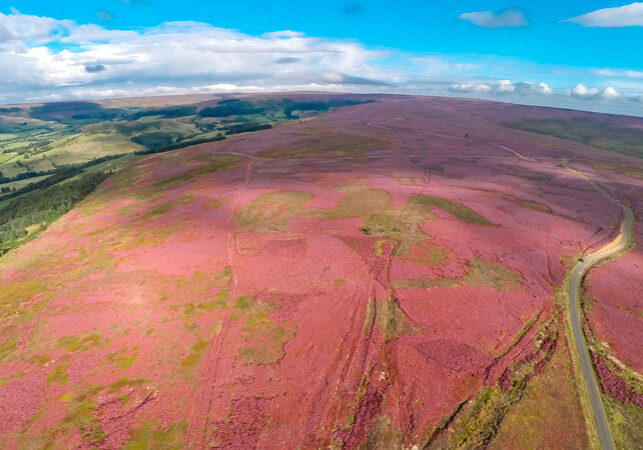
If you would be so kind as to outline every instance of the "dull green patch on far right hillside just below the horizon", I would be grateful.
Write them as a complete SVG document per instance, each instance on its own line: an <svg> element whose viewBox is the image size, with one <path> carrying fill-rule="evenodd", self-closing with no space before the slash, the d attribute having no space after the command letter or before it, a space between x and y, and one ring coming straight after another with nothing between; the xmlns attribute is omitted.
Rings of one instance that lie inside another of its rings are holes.
<svg viewBox="0 0 643 450"><path fill-rule="evenodd" d="M608 120L525 119L502 125L533 133L581 142L603 150L643 158L643 130L616 125Z"/></svg>

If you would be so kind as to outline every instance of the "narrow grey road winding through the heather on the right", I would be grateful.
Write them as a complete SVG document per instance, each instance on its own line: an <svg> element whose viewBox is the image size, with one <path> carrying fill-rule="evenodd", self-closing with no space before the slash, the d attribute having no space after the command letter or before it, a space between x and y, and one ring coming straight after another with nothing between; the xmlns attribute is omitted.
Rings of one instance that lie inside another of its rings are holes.
<svg viewBox="0 0 643 450"><path fill-rule="evenodd" d="M614 441L612 440L612 435L607 421L607 415L605 414L605 407L603 406L603 401L601 400L600 387L594 373L594 368L590 360L589 352L587 350L585 336L583 335L580 316L580 301L578 294L580 291L580 285L581 281L583 280L583 276L593 265L604 258L615 255L630 244L632 240L632 230L634 229L634 213L629 207L616 200L603 188L587 178L581 172L575 170L573 170L573 172L585 178L594 187L594 189L599 191L610 202L619 206L625 213L625 218L623 219L623 223L621 224L620 234L612 242L603 246L596 252L585 256L583 258L583 261L576 264L576 266L574 266L574 269L572 270L572 278L569 283L569 312L572 322L572 332L574 334L574 341L576 342L576 352L578 353L578 358L580 360L583 378L585 380L585 386L587 387L590 404L592 407L592 411L594 412L594 421L596 422L598 438L603 450L613 450Z"/></svg>

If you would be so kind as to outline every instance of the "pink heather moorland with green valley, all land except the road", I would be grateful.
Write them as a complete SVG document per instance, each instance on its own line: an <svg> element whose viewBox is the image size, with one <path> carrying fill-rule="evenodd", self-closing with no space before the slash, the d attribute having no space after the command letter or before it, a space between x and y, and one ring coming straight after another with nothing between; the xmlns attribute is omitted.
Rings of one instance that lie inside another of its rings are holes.
<svg viewBox="0 0 643 450"><path fill-rule="evenodd" d="M623 219L588 180L643 232L643 119L293 94L0 131L0 447L598 447L567 285ZM639 248L581 298L632 449Z"/></svg>

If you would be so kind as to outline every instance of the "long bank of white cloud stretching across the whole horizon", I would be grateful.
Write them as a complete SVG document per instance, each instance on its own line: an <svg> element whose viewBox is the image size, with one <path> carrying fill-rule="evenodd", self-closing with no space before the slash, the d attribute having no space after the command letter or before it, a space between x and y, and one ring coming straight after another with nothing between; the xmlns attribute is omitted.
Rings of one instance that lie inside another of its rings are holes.
<svg viewBox="0 0 643 450"><path fill-rule="evenodd" d="M637 114L642 80L635 70L372 50L293 30L253 36L167 22L133 31L0 13L0 104L307 90L466 96Z"/></svg>

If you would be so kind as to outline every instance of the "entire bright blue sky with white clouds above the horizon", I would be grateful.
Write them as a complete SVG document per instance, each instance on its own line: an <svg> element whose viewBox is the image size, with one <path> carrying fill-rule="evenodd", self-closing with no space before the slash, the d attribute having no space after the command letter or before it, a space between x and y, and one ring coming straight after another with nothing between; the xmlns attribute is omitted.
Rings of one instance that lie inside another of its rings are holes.
<svg viewBox="0 0 643 450"><path fill-rule="evenodd" d="M643 2L0 0L0 14L0 102L307 89L643 115Z"/></svg>

